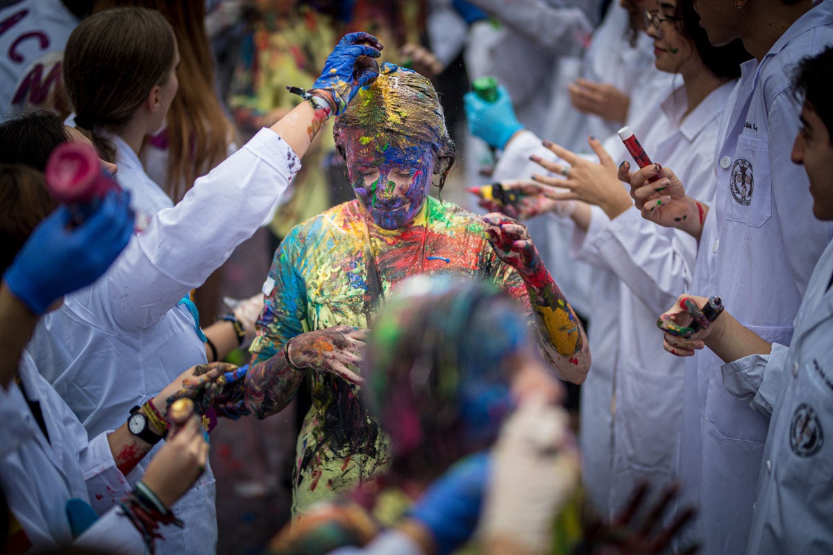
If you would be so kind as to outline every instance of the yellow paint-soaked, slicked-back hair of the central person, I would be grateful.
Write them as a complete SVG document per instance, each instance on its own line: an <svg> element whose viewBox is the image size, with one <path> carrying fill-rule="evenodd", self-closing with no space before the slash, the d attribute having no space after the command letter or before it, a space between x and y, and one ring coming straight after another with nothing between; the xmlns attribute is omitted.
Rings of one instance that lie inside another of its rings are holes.
<svg viewBox="0 0 833 555"><path fill-rule="evenodd" d="M434 174L442 189L454 164L454 141L448 135L440 98L427 77L385 62L379 77L363 87L336 120L332 135L342 156L347 150L347 129L358 127L369 133L389 133L402 144L420 145L434 153Z"/></svg>

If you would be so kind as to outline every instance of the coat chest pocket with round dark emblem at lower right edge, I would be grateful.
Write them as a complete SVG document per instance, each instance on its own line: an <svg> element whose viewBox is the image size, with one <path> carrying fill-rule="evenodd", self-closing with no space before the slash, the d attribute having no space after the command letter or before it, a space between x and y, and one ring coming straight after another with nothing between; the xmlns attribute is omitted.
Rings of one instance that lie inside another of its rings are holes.
<svg viewBox="0 0 833 555"><path fill-rule="evenodd" d="M824 361L823 361L824 362ZM794 380L791 394L784 399L781 418L787 419L784 434L774 440L781 479L806 490L833 479L833 368L823 368L814 359L801 365L798 373L785 374Z"/></svg>

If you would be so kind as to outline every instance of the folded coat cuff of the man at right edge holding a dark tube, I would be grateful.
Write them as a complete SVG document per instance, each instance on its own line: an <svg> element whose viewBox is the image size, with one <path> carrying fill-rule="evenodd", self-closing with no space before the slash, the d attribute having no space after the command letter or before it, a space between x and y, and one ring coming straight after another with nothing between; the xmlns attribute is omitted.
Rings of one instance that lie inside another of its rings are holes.
<svg viewBox="0 0 833 555"><path fill-rule="evenodd" d="M752 409L771 417L789 354L789 347L773 343L770 354L750 354L723 364L723 386L748 401Z"/></svg>

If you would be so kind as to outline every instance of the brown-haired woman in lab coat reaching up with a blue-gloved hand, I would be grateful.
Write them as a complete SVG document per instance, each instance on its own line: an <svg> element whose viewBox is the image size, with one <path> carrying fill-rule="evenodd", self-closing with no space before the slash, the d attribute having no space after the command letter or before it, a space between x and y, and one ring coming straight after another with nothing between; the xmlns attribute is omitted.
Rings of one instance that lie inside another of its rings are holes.
<svg viewBox="0 0 833 555"><path fill-rule="evenodd" d="M378 45L367 37L353 34L342 39L311 102L302 102L282 121L258 132L197 180L176 206L161 208L102 280L68 295L58 310L38 323L27 352L87 432L116 428L132 406L144 404L183 368L207 362L206 344L187 294L260 227L300 168L299 157L322 122L342 110L359 84L375 75L367 68L353 76L358 58L379 54L376 46L357 43ZM155 47L148 49L149 42ZM171 28L158 12L117 8L84 20L65 54L70 95L87 92L101 97L97 103L73 98L78 116L87 118L92 135L105 147L116 139L113 133L123 134L120 141L127 145L123 148L132 155L133 165L125 171L122 185L136 186L133 191L146 186L142 191L148 195L164 196L147 187L136 151L142 137L165 120L177 88L176 48ZM90 82L93 70L95 82ZM105 112L119 119L102 116ZM19 131L26 141L37 134L34 126L21 126ZM5 132L0 136L0 141L14 141ZM144 465L143 461L140 466ZM212 553L217 542L214 496L213 475L207 468L175 508L187 526L169 532L158 549Z"/></svg>

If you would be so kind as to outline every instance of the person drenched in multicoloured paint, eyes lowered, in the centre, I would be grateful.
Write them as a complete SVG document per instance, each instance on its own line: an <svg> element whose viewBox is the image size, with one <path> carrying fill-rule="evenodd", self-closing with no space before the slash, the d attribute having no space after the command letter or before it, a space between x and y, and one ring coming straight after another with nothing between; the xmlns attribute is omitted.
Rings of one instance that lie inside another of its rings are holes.
<svg viewBox="0 0 833 555"><path fill-rule="evenodd" d="M295 508L387 468L387 439L362 408L362 379L350 367L361 361L377 307L409 275L491 280L531 310L562 378L581 383L590 365L584 330L526 228L428 196L432 176L442 185L454 154L426 77L383 64L336 122L335 137L357 200L298 225L275 253L247 375L247 406L259 417L284 408L312 378Z"/></svg>

